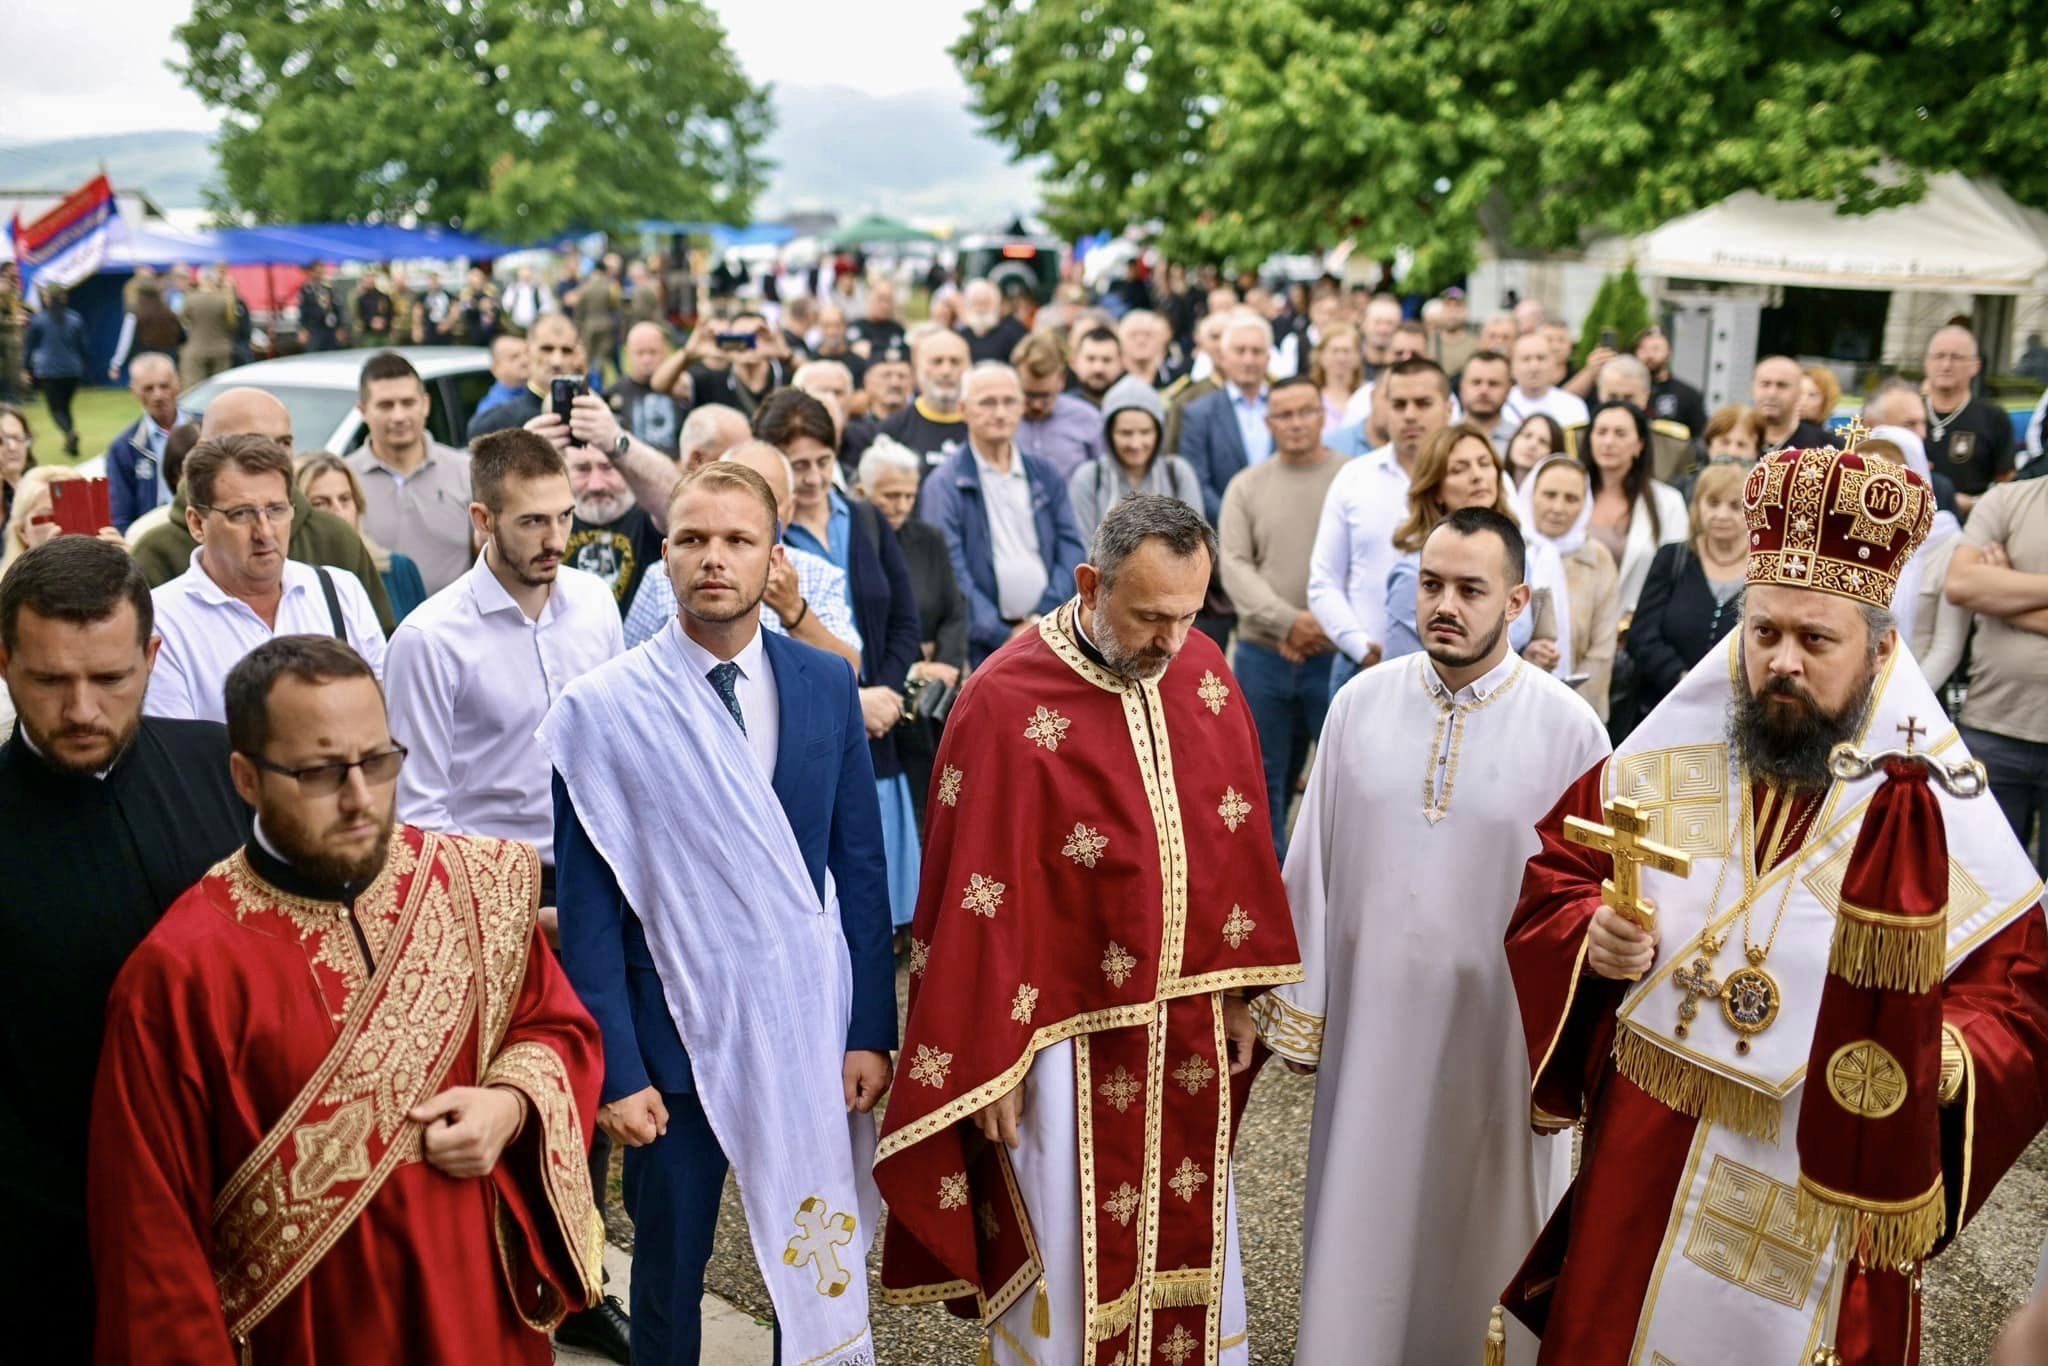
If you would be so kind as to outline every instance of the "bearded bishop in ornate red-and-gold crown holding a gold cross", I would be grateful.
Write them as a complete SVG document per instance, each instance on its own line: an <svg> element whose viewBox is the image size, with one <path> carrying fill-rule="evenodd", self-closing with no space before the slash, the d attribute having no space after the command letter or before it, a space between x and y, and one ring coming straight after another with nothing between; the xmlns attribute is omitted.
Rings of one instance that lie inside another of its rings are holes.
<svg viewBox="0 0 2048 1366"><path fill-rule="evenodd" d="M1853 442L1782 451L1743 500L1741 629L1542 819L1507 928L1530 1118L1585 1122L1571 1194L1505 1300L1542 1337L1540 1362L1915 1360L1919 1257L1982 1206L2044 1118L2042 885L1989 801L1937 793L1946 862L1939 838L1894 850L1898 883L1946 899L1931 952L1901 958L1937 1008L1925 1067L1868 1038L1847 1065L1849 1047L1810 1061L1843 971L1837 936L1853 920L1882 940L1903 922L1847 891L1884 772L1833 776L1833 745L1907 743L1944 766L1966 754L1886 610L1933 520L1921 477ZM1645 836L1692 860L1690 877L1640 870L1655 930L1602 901L1614 858L1567 840L1565 819L1606 823L1608 799L1634 801ZM1876 952L1858 967L1860 952L1849 971L1898 971ZM1907 991L1876 981L1870 997ZM1929 1100L1937 1122L1870 1151L1933 1184L1858 1206L1858 1237L1878 1243L1815 1233L1808 1122L1876 1124Z"/></svg>

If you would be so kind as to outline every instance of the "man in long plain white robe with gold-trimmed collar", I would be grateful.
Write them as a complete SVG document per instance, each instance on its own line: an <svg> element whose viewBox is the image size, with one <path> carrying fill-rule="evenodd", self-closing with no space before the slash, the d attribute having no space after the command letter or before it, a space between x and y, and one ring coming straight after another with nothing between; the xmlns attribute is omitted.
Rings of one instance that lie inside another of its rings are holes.
<svg viewBox="0 0 2048 1366"><path fill-rule="evenodd" d="M1468 1360L1569 1178L1571 1139L1530 1128L1501 936L1536 821L1608 735L1507 647L1530 600L1522 561L1491 508L1430 537L1425 651L1337 692L1294 825L1307 981L1253 1016L1317 1075L1300 1362Z"/></svg>

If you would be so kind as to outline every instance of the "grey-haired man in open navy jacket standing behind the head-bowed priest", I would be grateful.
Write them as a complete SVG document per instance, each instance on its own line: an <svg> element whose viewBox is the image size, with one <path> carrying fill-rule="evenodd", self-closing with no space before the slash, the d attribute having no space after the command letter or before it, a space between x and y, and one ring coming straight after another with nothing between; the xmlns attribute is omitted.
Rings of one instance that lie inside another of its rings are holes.
<svg viewBox="0 0 2048 1366"><path fill-rule="evenodd" d="M981 664L1004 641L1073 596L1087 559L1067 481L1016 449L1024 381L999 360L967 373L961 391L967 446L932 471L918 516L946 535L952 575L967 594L967 657Z"/></svg>

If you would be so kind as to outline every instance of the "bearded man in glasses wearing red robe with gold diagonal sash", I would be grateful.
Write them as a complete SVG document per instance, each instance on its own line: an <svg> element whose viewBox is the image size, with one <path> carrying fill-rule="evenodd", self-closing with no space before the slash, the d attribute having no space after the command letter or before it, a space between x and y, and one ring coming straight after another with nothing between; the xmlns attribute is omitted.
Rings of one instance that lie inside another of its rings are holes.
<svg viewBox="0 0 2048 1366"><path fill-rule="evenodd" d="M403 750L344 643L264 643L227 702L254 838L109 1001L98 1360L539 1366L602 1268L598 1030L539 856L391 825Z"/></svg>

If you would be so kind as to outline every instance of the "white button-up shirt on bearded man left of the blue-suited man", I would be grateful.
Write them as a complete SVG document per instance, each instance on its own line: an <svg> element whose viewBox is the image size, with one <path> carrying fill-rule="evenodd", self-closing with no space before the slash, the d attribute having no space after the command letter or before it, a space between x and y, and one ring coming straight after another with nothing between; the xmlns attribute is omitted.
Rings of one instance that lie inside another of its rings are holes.
<svg viewBox="0 0 2048 1366"><path fill-rule="evenodd" d="M524 840L553 866L551 770L535 731L563 688L625 651L618 602L604 580L563 565L532 621L487 555L391 635L391 735L410 750L397 813L422 829Z"/></svg>

